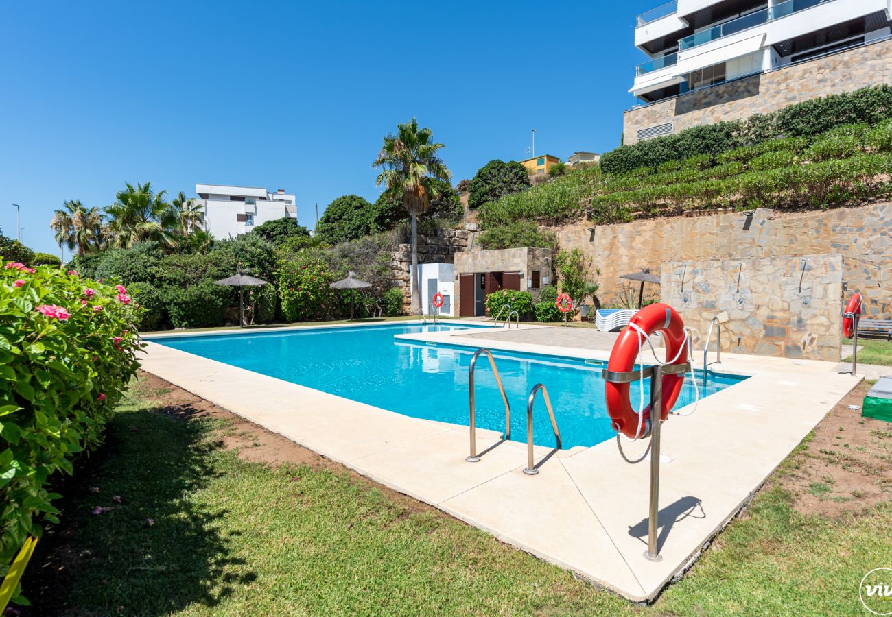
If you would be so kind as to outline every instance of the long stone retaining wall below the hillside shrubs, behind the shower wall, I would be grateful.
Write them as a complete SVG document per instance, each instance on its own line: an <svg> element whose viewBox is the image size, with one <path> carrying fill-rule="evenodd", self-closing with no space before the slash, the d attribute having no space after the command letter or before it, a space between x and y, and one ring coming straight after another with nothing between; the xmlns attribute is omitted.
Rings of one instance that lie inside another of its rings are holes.
<svg viewBox="0 0 892 617"><path fill-rule="evenodd" d="M747 219L751 219L748 224ZM792 214L755 210L751 217L725 212L624 225L583 224L555 231L560 248L582 249L594 259L604 304L617 300L620 275L650 267L660 276L664 261L839 254L843 281L850 291L862 292L865 312L892 318L892 204L888 202ZM656 284L645 286L648 295L660 296Z"/></svg>

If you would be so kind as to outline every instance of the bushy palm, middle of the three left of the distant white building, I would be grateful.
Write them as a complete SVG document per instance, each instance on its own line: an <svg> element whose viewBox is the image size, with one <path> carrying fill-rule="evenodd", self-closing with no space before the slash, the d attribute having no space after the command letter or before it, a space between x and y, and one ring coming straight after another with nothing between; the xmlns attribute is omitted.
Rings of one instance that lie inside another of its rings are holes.
<svg viewBox="0 0 892 617"><path fill-rule="evenodd" d="M105 209L109 216L111 240L119 248L153 240L166 248L177 246L177 213L164 200L167 191L153 193L152 184L129 184L116 195L116 202Z"/></svg>

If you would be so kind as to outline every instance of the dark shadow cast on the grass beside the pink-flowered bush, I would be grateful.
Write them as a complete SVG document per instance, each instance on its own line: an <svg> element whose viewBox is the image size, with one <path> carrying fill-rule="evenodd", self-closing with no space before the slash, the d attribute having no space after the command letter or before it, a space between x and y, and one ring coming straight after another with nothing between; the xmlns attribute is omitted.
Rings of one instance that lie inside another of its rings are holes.
<svg viewBox="0 0 892 617"><path fill-rule="evenodd" d="M64 496L61 523L22 581L28 613L168 614L217 605L256 578L230 554L238 531L225 529L227 511L195 498L218 474L216 421L170 415L194 409L125 406L103 447L54 487ZM110 509L93 514L97 506Z"/></svg>

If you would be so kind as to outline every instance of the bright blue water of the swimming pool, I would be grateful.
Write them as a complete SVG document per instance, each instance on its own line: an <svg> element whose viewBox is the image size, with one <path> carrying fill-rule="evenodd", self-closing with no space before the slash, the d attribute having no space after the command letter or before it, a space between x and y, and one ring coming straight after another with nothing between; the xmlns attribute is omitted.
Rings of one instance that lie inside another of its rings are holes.
<svg viewBox="0 0 892 617"><path fill-rule="evenodd" d="M399 414L467 425L467 367L476 348L431 346L393 338L394 334L456 329L464 328L376 325L146 339ZM475 344L473 339L467 342ZM593 446L613 438L615 432L604 407L604 381L600 376L603 363L509 352L493 355L511 405L512 440L526 440L526 397L536 383L548 388L564 448ZM741 379L711 375L700 397ZM477 362L475 388L477 426L503 431L505 408L486 358ZM676 408L693 399L689 375ZM632 401L637 407L635 385ZM301 405L301 401L295 400L294 405ZM533 434L537 444L554 445L541 395L533 412Z"/></svg>

